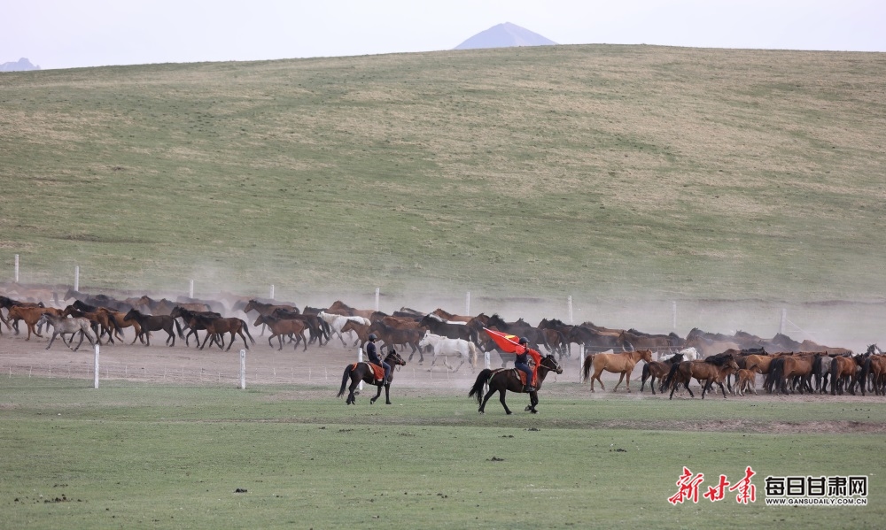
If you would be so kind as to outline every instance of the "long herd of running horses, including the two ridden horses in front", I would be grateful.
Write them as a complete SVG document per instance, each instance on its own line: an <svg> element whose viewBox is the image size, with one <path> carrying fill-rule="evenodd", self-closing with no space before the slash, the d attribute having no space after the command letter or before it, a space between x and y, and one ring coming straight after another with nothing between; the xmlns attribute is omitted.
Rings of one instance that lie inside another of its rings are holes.
<svg viewBox="0 0 886 530"><path fill-rule="evenodd" d="M242 315L245 319L226 314ZM486 401L495 392L501 392L501 403L510 413L504 391L522 388L514 382L517 374L505 370L507 363L513 361L513 354L501 351L484 333L485 328L525 337L530 347L546 351L539 370L539 387L542 374L563 372L560 363L571 357L573 347L577 347L583 356L583 380L590 382L592 392L595 382L605 390L603 372L620 375L613 391L626 380L626 391L630 392L631 373L642 361L641 392L649 382L652 393L670 393L670 397L680 388L695 396L690 388L693 380L701 386L702 397L715 386L724 397L727 388L740 396L757 393L758 378L762 379L765 391L773 394L886 395L886 356L875 345L856 355L849 349L796 342L784 334L764 339L741 331L713 334L694 328L686 337L680 337L674 333L648 334L633 328L596 326L592 322L565 324L558 319L541 319L533 326L524 319L506 321L498 314L457 315L442 309L424 312L403 307L387 314L356 309L341 301L325 308L299 309L292 303L232 295L215 300L178 297L171 301L150 296L118 299L73 289L51 300L0 296L0 334L4 326L7 332L18 334L20 323L26 326L26 340L32 335L43 336L42 328L51 327L47 349L58 337L74 350L84 340L90 344L113 344L125 340L128 328L134 332L131 343L141 342L145 346L151 345L154 333L165 334L167 346L175 346L176 338L190 346L193 337L199 349L224 349L225 342L230 349L238 340L249 349L255 344L251 324L253 329L260 328L262 335L267 331L268 345L276 349L291 344L292 348L304 351L309 345L323 347L334 338L343 347L356 347L365 343L369 334L376 334L379 346L396 355L391 357L394 365L401 365L400 361L405 364L417 354L420 364L425 355L430 355L431 366L441 358L448 370L455 371L469 363L476 371L478 355L495 351L501 357L501 368L481 371L470 391L470 396L478 399L481 412ZM202 332L202 339L198 332ZM80 342L74 346L78 336ZM408 359L400 357L398 349L404 356L408 351ZM449 365L447 358L452 356L460 358L462 364ZM375 383L368 368L349 366L339 395L344 393L348 378L353 381L348 403L354 403L356 382ZM489 390L484 393L484 388ZM537 403L537 395L533 394L526 410L536 411Z"/></svg>

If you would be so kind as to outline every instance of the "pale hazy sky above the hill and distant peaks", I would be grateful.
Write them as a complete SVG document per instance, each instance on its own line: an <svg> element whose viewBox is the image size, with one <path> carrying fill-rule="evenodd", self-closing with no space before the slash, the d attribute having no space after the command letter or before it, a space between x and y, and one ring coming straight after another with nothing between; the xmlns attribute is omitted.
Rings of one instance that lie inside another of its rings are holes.
<svg viewBox="0 0 886 530"><path fill-rule="evenodd" d="M8 0L0 63L43 69L452 50L510 22L559 44L886 51L883 0Z"/></svg>

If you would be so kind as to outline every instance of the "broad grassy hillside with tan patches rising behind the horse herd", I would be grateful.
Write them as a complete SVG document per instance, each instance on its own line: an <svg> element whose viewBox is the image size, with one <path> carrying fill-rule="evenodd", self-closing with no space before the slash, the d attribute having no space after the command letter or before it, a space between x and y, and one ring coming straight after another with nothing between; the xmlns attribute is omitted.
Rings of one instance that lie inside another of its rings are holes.
<svg viewBox="0 0 886 530"><path fill-rule="evenodd" d="M875 53L4 73L0 279L19 254L94 288L878 301L884 131Z"/></svg>

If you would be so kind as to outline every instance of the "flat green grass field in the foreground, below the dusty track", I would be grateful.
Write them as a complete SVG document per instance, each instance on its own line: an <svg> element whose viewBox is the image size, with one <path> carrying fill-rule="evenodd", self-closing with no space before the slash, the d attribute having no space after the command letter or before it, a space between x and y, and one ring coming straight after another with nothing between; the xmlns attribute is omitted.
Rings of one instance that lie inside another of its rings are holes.
<svg viewBox="0 0 886 530"><path fill-rule="evenodd" d="M506 416L421 390L348 407L315 387L0 388L10 528L865 528L886 505L872 403L588 399L561 383L539 415ZM845 425L869 432L827 428ZM672 506L684 465L702 492L750 465L758 500ZM868 505L766 507L766 476L791 474L868 475Z"/></svg>

